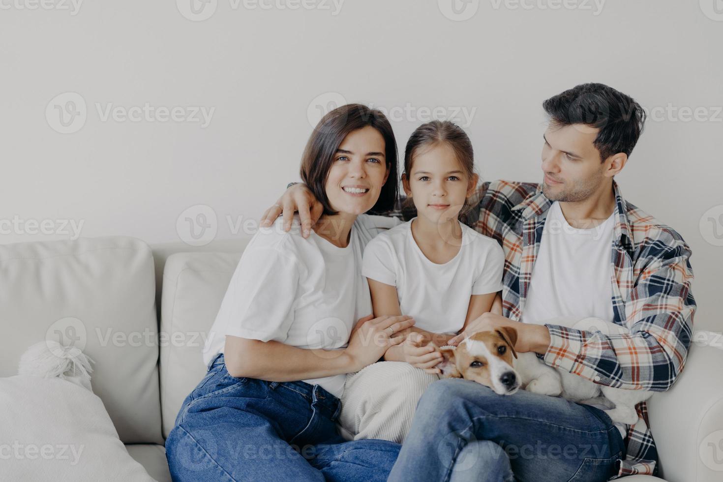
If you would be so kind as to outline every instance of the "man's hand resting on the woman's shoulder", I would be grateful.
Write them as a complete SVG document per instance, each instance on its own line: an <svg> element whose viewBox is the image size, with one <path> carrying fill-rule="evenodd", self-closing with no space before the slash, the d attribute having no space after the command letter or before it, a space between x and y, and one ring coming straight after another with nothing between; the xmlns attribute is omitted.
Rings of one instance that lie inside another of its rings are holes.
<svg viewBox="0 0 723 482"><path fill-rule="evenodd" d="M291 229L291 221L294 220L296 211L299 212L301 220L301 236L308 238L312 226L321 218L324 207L306 184L294 184L286 189L276 204L265 210L261 217L261 227L268 228L283 212L283 231L288 231Z"/></svg>

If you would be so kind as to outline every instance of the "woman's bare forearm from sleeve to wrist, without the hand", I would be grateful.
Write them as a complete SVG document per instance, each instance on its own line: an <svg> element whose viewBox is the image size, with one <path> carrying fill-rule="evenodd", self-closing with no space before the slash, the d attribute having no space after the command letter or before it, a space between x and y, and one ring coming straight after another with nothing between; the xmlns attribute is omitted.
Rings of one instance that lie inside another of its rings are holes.
<svg viewBox="0 0 723 482"><path fill-rule="evenodd" d="M226 336L224 350L228 374L269 382L295 382L351 373L362 367L346 350L307 350L276 341L262 342Z"/></svg>

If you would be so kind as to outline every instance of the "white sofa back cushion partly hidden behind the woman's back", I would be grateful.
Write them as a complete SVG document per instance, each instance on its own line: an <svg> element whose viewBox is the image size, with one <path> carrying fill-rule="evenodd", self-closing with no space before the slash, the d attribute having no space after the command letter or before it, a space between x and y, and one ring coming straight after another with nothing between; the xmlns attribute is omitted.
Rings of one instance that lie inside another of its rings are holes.
<svg viewBox="0 0 723 482"><path fill-rule="evenodd" d="M239 244L239 251L245 244ZM205 376L202 350L241 253L176 253L166 259L161 301L163 436Z"/></svg>

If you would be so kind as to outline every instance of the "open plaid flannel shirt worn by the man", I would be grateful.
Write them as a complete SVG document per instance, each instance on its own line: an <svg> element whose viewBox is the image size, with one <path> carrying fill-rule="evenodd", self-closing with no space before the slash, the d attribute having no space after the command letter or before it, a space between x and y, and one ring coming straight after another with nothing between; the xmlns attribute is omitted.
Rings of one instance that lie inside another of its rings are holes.
<svg viewBox="0 0 723 482"><path fill-rule="evenodd" d="M693 335L690 248L672 228L625 202L616 183L614 189L612 322L629 334L546 324L551 342L542 360L610 387L664 392L683 370ZM481 184L470 201L474 208L466 223L495 238L505 251L502 310L505 317L519 320L552 201L540 184L510 181ZM409 220L416 212L399 205L390 214ZM636 411L638 421L628 428L618 477L657 473L646 403Z"/></svg>

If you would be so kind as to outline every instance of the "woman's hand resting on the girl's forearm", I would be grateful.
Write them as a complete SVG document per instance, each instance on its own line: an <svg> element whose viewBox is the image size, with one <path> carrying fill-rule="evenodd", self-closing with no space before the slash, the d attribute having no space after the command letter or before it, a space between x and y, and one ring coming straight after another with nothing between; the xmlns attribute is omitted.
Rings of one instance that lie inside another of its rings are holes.
<svg viewBox="0 0 723 482"><path fill-rule="evenodd" d="M345 353L351 360L351 371L359 371L384 356L390 346L404 341L399 332L414 325L414 319L406 315L398 317L364 317L351 332Z"/></svg>

